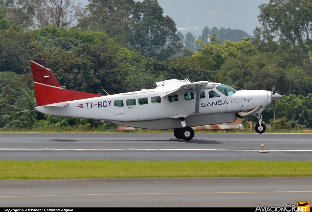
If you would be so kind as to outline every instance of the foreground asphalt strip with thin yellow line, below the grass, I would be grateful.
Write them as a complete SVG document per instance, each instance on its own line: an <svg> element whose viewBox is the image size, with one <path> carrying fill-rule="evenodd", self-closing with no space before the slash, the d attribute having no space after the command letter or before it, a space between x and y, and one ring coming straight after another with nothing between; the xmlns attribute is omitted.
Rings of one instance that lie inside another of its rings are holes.
<svg viewBox="0 0 312 212"><path fill-rule="evenodd" d="M311 177L2 180L0 207L261 207L311 201Z"/></svg>

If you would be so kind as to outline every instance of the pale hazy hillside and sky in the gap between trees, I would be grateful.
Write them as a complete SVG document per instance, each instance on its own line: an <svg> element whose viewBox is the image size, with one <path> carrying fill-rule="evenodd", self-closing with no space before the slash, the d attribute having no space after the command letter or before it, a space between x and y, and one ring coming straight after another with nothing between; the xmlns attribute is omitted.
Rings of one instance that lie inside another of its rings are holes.
<svg viewBox="0 0 312 212"><path fill-rule="evenodd" d="M258 6L268 0L158 0L163 7L164 15L173 18L178 31L192 32L196 37L202 29L212 28L241 29L252 35L259 26ZM191 29L184 29L191 28Z"/></svg>

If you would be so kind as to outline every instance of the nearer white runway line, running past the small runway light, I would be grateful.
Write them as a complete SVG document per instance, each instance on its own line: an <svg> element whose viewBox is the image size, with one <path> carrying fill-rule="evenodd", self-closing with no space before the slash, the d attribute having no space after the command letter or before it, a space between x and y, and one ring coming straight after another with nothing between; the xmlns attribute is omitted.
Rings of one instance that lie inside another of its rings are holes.
<svg viewBox="0 0 312 212"><path fill-rule="evenodd" d="M137 151L261 151L261 149L163 149L163 148L0 148L0 151L110 151L110 150L137 150ZM275 152L312 152L312 149L265 149Z"/></svg>

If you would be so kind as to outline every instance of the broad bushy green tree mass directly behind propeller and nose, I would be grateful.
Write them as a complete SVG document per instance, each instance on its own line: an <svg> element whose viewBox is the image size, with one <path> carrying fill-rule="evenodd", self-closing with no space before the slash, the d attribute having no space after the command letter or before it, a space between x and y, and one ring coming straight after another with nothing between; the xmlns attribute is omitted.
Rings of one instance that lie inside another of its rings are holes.
<svg viewBox="0 0 312 212"><path fill-rule="evenodd" d="M276 79L276 92L282 95L308 95L312 89L311 80L300 67L283 64L283 59L274 53L256 52L231 57L220 68L220 73L238 90L271 91Z"/></svg>

